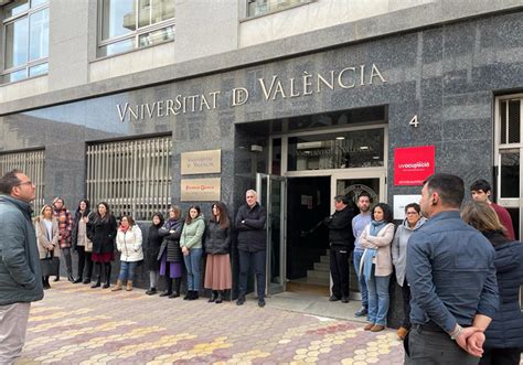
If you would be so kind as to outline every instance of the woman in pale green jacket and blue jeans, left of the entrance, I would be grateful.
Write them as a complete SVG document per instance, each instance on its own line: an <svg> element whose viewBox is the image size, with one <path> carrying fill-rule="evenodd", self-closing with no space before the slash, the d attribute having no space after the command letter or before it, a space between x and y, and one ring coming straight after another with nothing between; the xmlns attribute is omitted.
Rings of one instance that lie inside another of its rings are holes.
<svg viewBox="0 0 523 365"><path fill-rule="evenodd" d="M188 269L188 294L184 300L195 300L199 298L201 264L202 264L202 237L205 232L205 222L200 206L193 205L189 208L185 224L183 225L180 247L182 248L183 260Z"/></svg>

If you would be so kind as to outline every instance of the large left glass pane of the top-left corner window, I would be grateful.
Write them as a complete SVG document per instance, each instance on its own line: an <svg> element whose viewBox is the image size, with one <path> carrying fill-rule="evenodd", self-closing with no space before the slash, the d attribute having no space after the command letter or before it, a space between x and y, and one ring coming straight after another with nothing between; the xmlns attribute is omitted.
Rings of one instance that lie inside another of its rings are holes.
<svg viewBox="0 0 523 365"><path fill-rule="evenodd" d="M28 63L29 19L6 26L6 69Z"/></svg>

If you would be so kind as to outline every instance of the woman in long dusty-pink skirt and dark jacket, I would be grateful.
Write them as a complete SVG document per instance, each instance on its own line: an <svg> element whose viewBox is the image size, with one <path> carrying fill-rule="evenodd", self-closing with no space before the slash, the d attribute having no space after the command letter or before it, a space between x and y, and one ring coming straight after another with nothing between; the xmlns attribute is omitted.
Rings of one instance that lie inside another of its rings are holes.
<svg viewBox="0 0 523 365"><path fill-rule="evenodd" d="M212 206L204 246L207 255L204 288L212 290L209 302L218 304L223 301L223 292L232 287L231 219L223 202Z"/></svg>

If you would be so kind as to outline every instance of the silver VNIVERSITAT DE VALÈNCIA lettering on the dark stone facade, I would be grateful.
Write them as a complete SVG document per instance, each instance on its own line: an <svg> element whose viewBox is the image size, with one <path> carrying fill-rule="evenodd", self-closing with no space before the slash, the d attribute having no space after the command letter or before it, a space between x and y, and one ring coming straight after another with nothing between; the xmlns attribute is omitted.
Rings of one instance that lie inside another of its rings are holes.
<svg viewBox="0 0 523 365"><path fill-rule="evenodd" d="M255 87L235 87L231 90L213 90L203 94L183 95L178 94L173 98L163 100L131 105L129 103L117 104L118 116L121 122L142 120L147 118L162 118L178 116L189 112L199 112L216 109L222 99L227 96L228 107L238 107L248 103L253 93L262 93L264 101L275 101L288 98L307 97L328 90L352 89L376 82L386 83L382 72L375 64L349 66L339 71L325 71L322 73L309 73L303 71L301 75L284 78L280 75L260 77ZM223 101L222 101L223 103Z"/></svg>

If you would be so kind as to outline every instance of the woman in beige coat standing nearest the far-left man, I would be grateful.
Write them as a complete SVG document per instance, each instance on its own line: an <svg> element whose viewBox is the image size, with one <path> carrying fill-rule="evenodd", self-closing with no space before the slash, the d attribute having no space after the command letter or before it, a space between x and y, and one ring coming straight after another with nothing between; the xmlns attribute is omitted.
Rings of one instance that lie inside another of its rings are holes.
<svg viewBox="0 0 523 365"><path fill-rule="evenodd" d="M53 207L44 205L40 211L40 216L34 219L36 233L36 244L39 246L40 260L60 257L58 245L58 222L53 216ZM42 277L44 289L50 289L49 276Z"/></svg>

